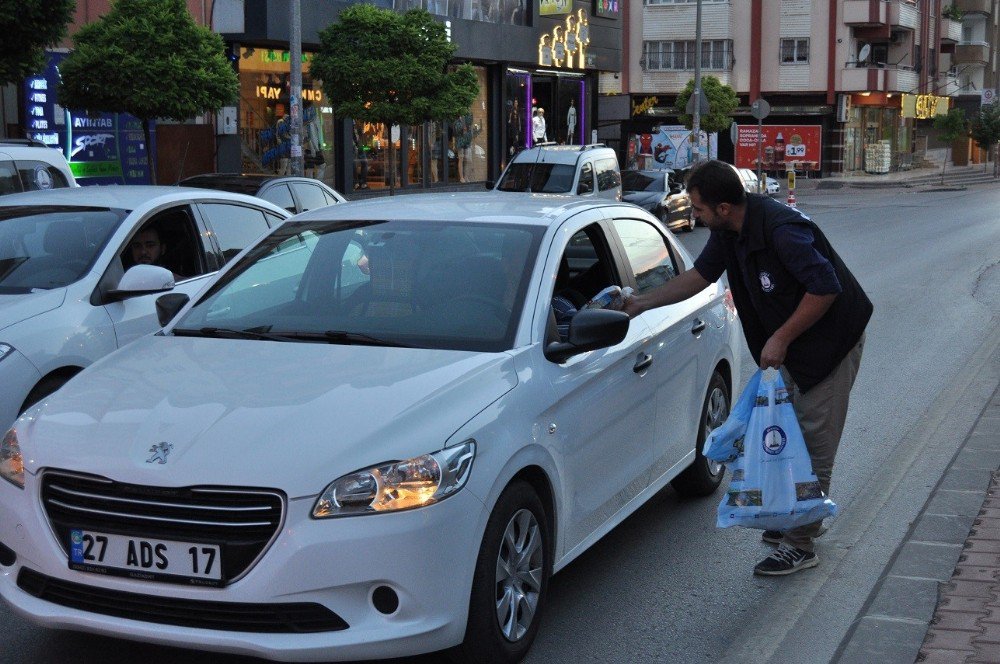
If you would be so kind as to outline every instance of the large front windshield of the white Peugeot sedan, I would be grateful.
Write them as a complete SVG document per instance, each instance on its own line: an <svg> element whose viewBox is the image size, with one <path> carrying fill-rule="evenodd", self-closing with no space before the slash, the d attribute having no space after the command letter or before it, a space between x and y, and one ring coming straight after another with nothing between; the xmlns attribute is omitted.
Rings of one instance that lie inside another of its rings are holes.
<svg viewBox="0 0 1000 664"><path fill-rule="evenodd" d="M173 333L496 352L511 347L543 227L286 223Z"/></svg>

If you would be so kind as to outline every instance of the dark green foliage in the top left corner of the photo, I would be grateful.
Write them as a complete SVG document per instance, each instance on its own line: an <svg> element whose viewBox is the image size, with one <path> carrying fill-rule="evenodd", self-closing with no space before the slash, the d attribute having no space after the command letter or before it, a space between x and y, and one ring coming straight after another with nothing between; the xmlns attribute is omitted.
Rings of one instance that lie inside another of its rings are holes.
<svg viewBox="0 0 1000 664"><path fill-rule="evenodd" d="M74 0L0 0L0 85L45 69L45 47L66 36Z"/></svg>

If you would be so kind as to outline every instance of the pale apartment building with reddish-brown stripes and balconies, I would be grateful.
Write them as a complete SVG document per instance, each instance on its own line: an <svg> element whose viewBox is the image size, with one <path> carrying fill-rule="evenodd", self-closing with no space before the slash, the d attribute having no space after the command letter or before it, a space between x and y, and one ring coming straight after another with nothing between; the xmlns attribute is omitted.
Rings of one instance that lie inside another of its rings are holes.
<svg viewBox="0 0 1000 664"><path fill-rule="evenodd" d="M787 162L816 174L906 168L935 115L955 105L975 112L982 90L997 87L997 0L701 4L702 74L740 96L735 144L718 137L728 161L756 165L750 104L764 99L767 151L758 154L769 170ZM641 152L677 124L673 103L694 75L697 4L643 0L628 11L622 141Z"/></svg>

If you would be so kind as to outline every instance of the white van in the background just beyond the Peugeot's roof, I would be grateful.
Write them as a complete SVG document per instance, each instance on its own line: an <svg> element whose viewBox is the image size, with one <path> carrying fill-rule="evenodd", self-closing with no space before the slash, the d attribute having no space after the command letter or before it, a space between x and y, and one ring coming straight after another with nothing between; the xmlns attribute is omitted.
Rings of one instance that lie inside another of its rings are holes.
<svg viewBox="0 0 1000 664"><path fill-rule="evenodd" d="M506 192L572 194L587 198L622 199L621 169L615 151L603 143L543 144L521 150L500 176L496 187Z"/></svg>

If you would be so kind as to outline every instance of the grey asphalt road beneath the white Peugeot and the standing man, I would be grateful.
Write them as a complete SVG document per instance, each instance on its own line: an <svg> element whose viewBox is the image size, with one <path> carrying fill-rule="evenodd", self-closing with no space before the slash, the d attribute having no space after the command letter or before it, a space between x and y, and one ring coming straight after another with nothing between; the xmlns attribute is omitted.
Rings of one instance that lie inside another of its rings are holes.
<svg viewBox="0 0 1000 664"><path fill-rule="evenodd" d="M875 303L834 470L842 513L820 540L820 566L754 577L770 550L759 533L717 530L719 494L682 501L667 489L553 578L527 661L834 660L988 396L978 370L1000 342L998 206L995 186L800 196ZM707 236L681 239L697 253ZM0 622L2 662L257 661L47 631L3 606Z"/></svg>

